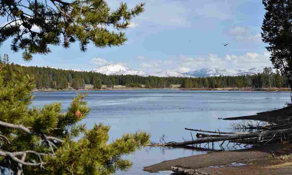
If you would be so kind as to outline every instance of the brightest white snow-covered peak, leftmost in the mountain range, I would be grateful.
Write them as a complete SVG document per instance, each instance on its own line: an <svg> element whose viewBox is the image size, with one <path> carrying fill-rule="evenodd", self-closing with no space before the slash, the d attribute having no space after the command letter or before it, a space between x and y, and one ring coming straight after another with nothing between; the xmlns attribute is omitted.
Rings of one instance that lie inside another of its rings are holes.
<svg viewBox="0 0 292 175"><path fill-rule="evenodd" d="M107 64L102 67L98 67L92 70L92 72L99 72L106 75L121 75L121 74L131 74L131 75L144 75L147 72L141 70L132 70L121 64Z"/></svg>

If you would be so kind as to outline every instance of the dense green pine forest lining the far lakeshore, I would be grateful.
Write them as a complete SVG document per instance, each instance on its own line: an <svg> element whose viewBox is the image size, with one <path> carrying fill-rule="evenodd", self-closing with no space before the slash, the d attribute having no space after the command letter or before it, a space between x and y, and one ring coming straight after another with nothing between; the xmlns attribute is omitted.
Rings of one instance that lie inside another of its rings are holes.
<svg viewBox="0 0 292 175"><path fill-rule="evenodd" d="M170 88L171 84L181 84L183 88L281 88L288 87L286 78L279 72L273 73L271 68L265 68L263 73L243 76L220 76L205 78L185 78L185 77L142 77L138 75L105 75L96 72L77 72L73 70L61 70L51 67L21 66L9 63L8 55L1 58L0 63L5 64L4 84L8 82L12 74L18 69L23 73L35 77L37 89L67 89L69 86L74 89L84 89L85 84L91 84L96 89L101 88L101 84L108 87L113 85L123 85L126 87L145 88Z"/></svg>

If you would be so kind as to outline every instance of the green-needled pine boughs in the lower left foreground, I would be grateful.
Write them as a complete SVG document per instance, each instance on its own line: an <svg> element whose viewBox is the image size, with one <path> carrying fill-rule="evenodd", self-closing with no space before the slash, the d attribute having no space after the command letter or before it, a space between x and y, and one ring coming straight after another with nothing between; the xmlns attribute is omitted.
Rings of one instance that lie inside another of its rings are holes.
<svg viewBox="0 0 292 175"><path fill-rule="evenodd" d="M132 163L122 156L149 143L150 135L145 132L124 134L108 143L109 126L100 123L86 129L85 124L79 124L90 111L84 101L87 94L74 97L67 112L63 113L60 103L29 108L33 100L34 79L17 71L13 73L13 81L4 87L1 81L3 70L3 65L0 65L0 121L24 126L29 132L1 126L0 134L9 142L0 139L0 153L33 150L50 154L39 155L42 166L22 166L23 174L113 174L117 169L125 171L131 167ZM48 141L47 136L62 142ZM26 153L24 161L40 163L39 156ZM0 168L6 171L10 168L16 174L19 164L9 156L0 156Z"/></svg>

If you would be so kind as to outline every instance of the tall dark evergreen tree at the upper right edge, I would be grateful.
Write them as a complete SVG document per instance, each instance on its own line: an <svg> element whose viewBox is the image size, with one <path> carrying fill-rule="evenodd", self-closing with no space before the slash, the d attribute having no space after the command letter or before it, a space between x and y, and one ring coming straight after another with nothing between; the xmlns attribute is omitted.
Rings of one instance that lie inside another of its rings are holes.
<svg viewBox="0 0 292 175"><path fill-rule="evenodd" d="M262 25L263 41L269 46L273 67L289 79L292 85L292 2L287 0L263 0L265 18ZM291 86L292 89L292 86Z"/></svg>

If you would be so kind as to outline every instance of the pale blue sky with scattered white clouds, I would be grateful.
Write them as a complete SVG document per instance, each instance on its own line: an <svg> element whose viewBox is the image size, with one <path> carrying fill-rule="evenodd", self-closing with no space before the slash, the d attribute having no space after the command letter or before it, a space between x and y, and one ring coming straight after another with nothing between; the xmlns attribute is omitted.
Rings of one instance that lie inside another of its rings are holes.
<svg viewBox="0 0 292 175"><path fill-rule="evenodd" d="M108 0L116 9L126 2L133 8L145 2L145 12L133 18L125 30L123 46L96 48L79 44L70 48L51 46L52 53L22 60L22 51L10 50L11 40L1 47L11 62L26 66L91 70L105 64L123 64L146 72L189 72L200 68L230 70L272 67L270 53L261 41L265 10L258 0ZM0 18L5 24L6 17ZM230 43L224 46L222 43Z"/></svg>

